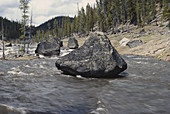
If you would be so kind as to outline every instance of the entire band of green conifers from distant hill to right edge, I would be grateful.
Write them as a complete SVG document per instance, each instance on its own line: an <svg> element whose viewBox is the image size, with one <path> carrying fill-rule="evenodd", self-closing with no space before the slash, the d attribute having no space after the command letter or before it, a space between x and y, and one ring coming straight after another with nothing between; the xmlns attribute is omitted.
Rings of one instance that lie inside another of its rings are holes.
<svg viewBox="0 0 170 114"><path fill-rule="evenodd" d="M114 33L119 25L126 23L143 28L152 22L157 24L158 14L161 23L169 21L170 7L168 4L170 4L168 0L96 0L96 5L87 4L86 8L79 9L73 22L69 21L69 17L63 18L62 24L58 21L51 21L46 23L45 30L48 28L52 35L65 37L73 33L88 34L94 30ZM41 26L43 28L43 25ZM44 32L43 28L37 33L45 34ZM48 32L49 34L50 32Z"/></svg>

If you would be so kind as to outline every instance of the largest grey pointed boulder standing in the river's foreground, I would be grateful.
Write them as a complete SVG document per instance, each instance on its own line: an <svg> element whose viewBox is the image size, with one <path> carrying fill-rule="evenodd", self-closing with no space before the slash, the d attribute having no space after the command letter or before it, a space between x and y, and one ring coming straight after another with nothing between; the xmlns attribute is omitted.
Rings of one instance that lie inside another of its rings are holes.
<svg viewBox="0 0 170 114"><path fill-rule="evenodd" d="M56 61L56 67L69 75L111 78L127 69L126 62L104 33L91 33L80 48Z"/></svg>

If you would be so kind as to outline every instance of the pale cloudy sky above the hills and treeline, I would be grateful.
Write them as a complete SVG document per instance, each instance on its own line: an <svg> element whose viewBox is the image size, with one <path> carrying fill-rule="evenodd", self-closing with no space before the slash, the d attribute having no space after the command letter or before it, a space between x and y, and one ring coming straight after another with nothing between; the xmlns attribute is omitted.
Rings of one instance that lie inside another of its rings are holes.
<svg viewBox="0 0 170 114"><path fill-rule="evenodd" d="M9 20L20 21L22 12L19 10L20 0L0 0L0 16ZM89 3L94 5L96 0L30 0L29 15L33 15L33 25L38 26L56 16L77 15L77 3L79 8Z"/></svg>

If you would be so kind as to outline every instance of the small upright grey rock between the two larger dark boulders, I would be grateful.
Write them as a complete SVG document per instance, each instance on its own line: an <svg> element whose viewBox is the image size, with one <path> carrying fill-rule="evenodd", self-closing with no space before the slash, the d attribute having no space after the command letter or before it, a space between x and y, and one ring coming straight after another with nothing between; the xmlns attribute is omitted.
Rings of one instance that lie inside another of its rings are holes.
<svg viewBox="0 0 170 114"><path fill-rule="evenodd" d="M69 38L68 40L68 48L69 49L76 49L78 48L79 45L78 45L78 42L75 38Z"/></svg>

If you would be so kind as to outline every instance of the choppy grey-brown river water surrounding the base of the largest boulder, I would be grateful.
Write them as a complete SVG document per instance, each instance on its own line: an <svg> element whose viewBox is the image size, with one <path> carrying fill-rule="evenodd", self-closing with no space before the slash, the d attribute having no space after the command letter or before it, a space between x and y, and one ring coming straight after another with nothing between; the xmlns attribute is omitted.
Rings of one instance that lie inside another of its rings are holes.
<svg viewBox="0 0 170 114"><path fill-rule="evenodd" d="M0 114L170 114L170 62L123 58L117 79L64 75L57 58L0 61Z"/></svg>

